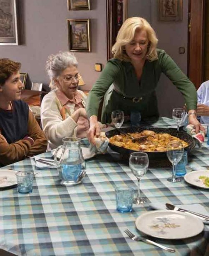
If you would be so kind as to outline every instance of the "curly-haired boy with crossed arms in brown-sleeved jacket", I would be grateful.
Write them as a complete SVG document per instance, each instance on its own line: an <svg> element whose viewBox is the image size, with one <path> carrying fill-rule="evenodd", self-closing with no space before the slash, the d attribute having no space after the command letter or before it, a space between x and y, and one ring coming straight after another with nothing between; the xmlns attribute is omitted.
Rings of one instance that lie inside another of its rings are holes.
<svg viewBox="0 0 209 256"><path fill-rule="evenodd" d="M0 59L0 166L46 151L47 140L28 104L20 100L21 64Z"/></svg>

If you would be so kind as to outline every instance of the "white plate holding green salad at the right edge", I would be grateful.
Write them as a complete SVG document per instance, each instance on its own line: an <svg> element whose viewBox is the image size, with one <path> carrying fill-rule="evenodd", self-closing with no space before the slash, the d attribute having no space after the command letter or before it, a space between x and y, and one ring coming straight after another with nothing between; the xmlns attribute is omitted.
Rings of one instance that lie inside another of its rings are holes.
<svg viewBox="0 0 209 256"><path fill-rule="evenodd" d="M199 179L199 176L209 177L209 170L188 172L184 176L184 180L187 183L189 183L191 185L194 185L196 187L209 189L209 187L206 187L206 185L202 182L202 180Z"/></svg>

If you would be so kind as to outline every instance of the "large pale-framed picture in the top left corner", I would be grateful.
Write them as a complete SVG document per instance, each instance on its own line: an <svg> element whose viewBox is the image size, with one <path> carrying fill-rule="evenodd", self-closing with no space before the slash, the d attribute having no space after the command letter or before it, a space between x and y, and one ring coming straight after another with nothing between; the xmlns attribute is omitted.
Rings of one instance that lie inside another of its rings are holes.
<svg viewBox="0 0 209 256"><path fill-rule="evenodd" d="M0 0L0 45L18 45L17 0Z"/></svg>

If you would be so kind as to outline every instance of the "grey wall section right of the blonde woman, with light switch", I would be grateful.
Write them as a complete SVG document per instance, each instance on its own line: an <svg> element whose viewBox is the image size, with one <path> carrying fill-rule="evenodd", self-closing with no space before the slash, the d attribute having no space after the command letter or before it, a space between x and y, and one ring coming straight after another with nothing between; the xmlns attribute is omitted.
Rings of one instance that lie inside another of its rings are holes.
<svg viewBox="0 0 209 256"><path fill-rule="evenodd" d="M158 48L164 49L187 74L188 44L188 0L183 2L182 21L158 21L158 1L152 0L152 26L159 39ZM185 53L179 54L178 48L184 47ZM161 115L171 117L173 107L182 107L184 98L171 81L163 74L157 88L158 107Z"/></svg>

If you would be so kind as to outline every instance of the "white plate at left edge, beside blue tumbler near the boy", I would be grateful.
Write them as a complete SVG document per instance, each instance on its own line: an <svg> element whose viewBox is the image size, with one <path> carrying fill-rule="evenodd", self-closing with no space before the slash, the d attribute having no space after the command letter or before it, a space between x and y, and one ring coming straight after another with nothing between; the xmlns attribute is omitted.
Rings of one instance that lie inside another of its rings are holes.
<svg viewBox="0 0 209 256"><path fill-rule="evenodd" d="M7 188L17 184L16 171L3 169L0 170L0 188Z"/></svg>

